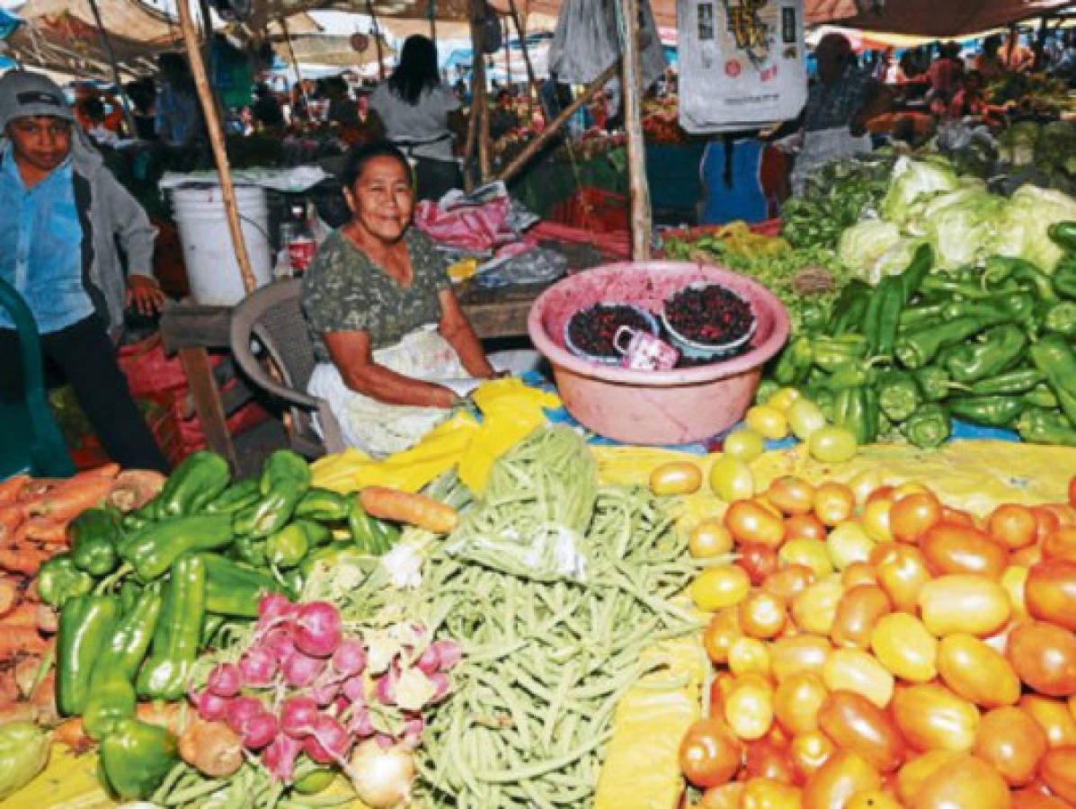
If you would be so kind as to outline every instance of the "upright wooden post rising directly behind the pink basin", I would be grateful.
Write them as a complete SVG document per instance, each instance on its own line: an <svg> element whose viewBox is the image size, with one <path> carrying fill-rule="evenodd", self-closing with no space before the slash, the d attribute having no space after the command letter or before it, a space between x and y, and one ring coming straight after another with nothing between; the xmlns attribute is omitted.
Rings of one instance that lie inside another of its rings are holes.
<svg viewBox="0 0 1076 809"><path fill-rule="evenodd" d="M647 184L647 152L642 141L642 59L636 28L639 25L638 0L618 0L621 17L621 90L624 129L627 131L627 182L632 194L632 258L650 258L650 187Z"/></svg>

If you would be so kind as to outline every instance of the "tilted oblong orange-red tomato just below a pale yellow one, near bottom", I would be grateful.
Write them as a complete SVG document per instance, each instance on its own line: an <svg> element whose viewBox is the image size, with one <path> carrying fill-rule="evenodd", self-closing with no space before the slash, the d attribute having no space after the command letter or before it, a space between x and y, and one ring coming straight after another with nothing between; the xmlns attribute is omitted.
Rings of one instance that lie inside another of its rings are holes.
<svg viewBox="0 0 1076 809"><path fill-rule="evenodd" d="M904 762L907 750L892 720L862 694L830 694L818 711L818 726L839 749L859 753L880 772Z"/></svg>

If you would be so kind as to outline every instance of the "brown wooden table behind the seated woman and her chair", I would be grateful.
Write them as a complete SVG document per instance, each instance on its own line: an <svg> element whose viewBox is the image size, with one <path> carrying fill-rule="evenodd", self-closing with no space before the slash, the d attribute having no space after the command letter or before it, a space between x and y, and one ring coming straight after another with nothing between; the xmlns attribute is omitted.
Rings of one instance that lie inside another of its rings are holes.
<svg viewBox="0 0 1076 809"><path fill-rule="evenodd" d="M479 338L525 337L530 304L544 288L534 285L486 289L464 283L456 294ZM210 350L228 349L230 325L230 307L180 303L160 316L165 351L179 352L206 443L235 469L236 449L228 435L225 402L209 363Z"/></svg>

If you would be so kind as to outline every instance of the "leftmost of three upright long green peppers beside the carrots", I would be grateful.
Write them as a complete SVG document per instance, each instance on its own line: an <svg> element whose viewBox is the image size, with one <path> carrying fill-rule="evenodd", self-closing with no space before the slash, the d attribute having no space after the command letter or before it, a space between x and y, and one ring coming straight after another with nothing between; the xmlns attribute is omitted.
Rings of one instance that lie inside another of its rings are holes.
<svg viewBox="0 0 1076 809"><path fill-rule="evenodd" d="M89 696L94 662L112 634L119 604L110 596L74 596L60 610L56 638L56 706L80 714Z"/></svg>

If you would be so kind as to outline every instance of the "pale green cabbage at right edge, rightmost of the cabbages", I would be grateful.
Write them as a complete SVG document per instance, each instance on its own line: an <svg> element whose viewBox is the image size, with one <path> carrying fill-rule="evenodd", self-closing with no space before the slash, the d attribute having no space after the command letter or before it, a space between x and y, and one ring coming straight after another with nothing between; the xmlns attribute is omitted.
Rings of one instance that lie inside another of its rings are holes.
<svg viewBox="0 0 1076 809"><path fill-rule="evenodd" d="M1076 199L1052 188L1022 185L994 221L993 252L1025 258L1053 272L1064 251L1046 231L1054 222L1072 219L1076 219Z"/></svg>

